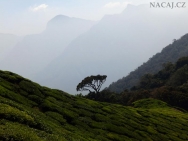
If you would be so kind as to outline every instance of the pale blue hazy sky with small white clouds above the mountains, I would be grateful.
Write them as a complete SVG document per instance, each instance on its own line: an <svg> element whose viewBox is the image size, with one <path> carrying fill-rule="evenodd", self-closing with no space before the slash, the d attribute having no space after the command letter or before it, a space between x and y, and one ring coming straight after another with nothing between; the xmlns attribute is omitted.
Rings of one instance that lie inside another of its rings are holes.
<svg viewBox="0 0 188 141"><path fill-rule="evenodd" d="M62 14L100 20L105 14L122 12L127 4L153 0L0 0L0 33L26 35L40 33L46 23Z"/></svg>

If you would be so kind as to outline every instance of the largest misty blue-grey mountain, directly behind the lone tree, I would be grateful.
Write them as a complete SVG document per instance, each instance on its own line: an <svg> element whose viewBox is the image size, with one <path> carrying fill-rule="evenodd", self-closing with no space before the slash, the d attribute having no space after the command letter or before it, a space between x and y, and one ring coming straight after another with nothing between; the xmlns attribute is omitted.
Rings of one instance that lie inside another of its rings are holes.
<svg viewBox="0 0 188 141"><path fill-rule="evenodd" d="M104 16L73 40L34 80L76 93L83 78L101 74L108 76L104 85L107 86L185 34L186 15L185 9L129 5L121 14Z"/></svg>

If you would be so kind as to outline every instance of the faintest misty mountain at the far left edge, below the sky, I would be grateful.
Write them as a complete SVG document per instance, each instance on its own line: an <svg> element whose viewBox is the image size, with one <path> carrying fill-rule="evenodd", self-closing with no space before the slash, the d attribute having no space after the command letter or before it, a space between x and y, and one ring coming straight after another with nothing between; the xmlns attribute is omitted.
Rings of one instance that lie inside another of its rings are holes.
<svg viewBox="0 0 188 141"><path fill-rule="evenodd" d="M0 33L0 61L21 41L22 37L13 34Z"/></svg>

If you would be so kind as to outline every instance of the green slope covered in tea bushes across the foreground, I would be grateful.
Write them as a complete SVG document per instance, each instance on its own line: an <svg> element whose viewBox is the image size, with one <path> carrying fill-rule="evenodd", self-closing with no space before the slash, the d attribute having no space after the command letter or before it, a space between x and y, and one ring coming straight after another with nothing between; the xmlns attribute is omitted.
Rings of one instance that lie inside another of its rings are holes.
<svg viewBox="0 0 188 141"><path fill-rule="evenodd" d="M188 140L188 114L145 99L125 107L41 87L0 71L0 140Z"/></svg>

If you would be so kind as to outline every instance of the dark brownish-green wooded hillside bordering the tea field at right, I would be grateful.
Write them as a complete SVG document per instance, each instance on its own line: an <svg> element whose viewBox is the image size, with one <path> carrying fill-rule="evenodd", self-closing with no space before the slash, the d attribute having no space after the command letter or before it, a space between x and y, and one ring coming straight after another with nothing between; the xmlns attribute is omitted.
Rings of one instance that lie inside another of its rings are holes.
<svg viewBox="0 0 188 141"><path fill-rule="evenodd" d="M163 67L155 74L143 75L137 86L120 94L103 90L98 95L88 94L86 97L123 105L132 105L143 98L154 98L188 110L188 57L182 57L176 63L166 63Z"/></svg>

